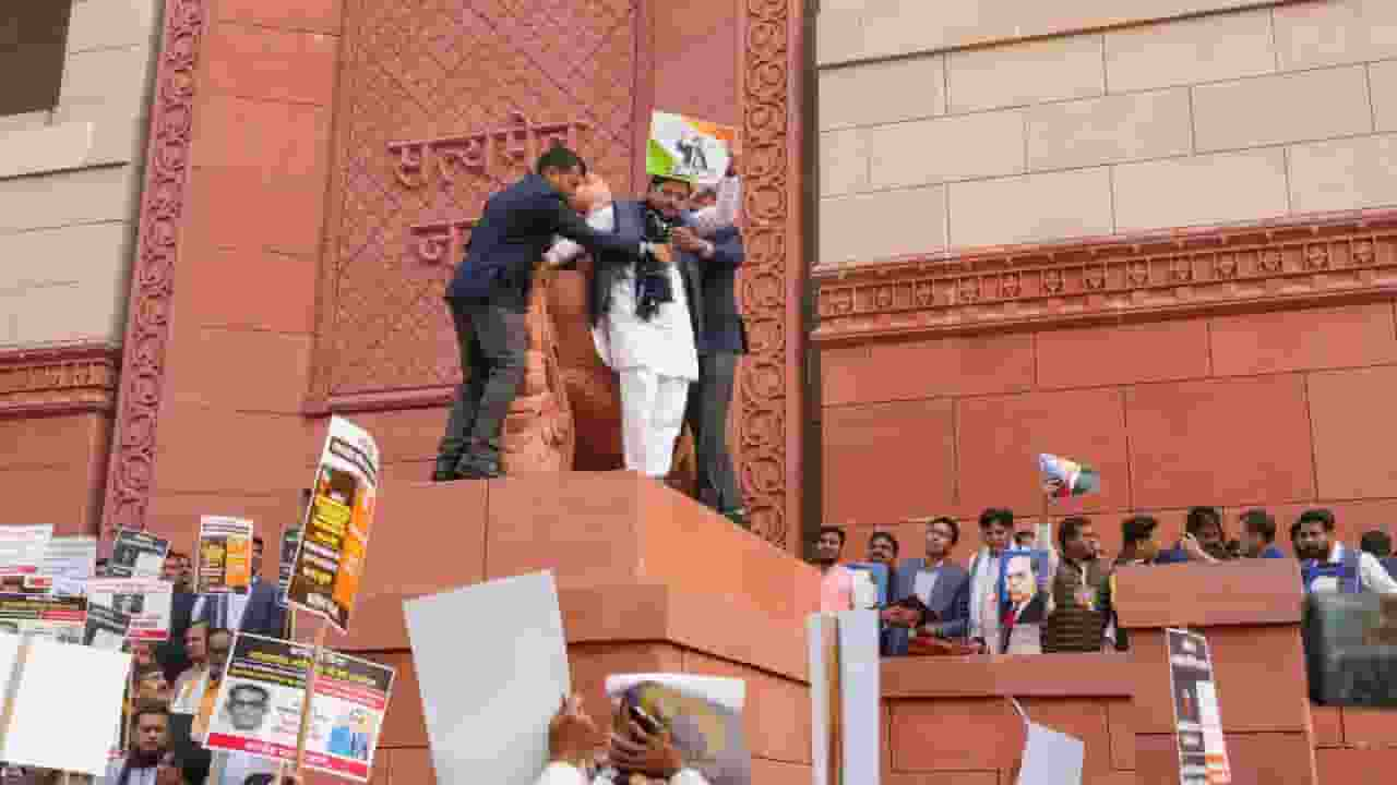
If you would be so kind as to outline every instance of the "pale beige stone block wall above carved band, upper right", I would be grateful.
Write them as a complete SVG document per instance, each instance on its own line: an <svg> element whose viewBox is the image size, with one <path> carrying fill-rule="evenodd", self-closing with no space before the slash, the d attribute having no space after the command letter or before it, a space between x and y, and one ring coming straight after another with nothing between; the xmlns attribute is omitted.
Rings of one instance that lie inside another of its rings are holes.
<svg viewBox="0 0 1397 785"><path fill-rule="evenodd" d="M1397 4L1030 6L821 7L817 264L1397 204Z"/></svg>

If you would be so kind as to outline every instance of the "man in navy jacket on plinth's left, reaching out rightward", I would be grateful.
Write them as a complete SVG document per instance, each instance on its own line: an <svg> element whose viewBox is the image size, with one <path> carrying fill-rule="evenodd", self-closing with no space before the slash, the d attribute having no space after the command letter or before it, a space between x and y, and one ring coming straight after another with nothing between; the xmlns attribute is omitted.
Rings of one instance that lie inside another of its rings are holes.
<svg viewBox="0 0 1397 785"><path fill-rule="evenodd" d="M555 147L534 173L490 197L471 230L446 292L465 380L437 450L436 482L500 476L500 426L524 380L534 268L555 235L594 254L637 258L645 250L636 236L590 228L567 204L585 175L576 152Z"/></svg>

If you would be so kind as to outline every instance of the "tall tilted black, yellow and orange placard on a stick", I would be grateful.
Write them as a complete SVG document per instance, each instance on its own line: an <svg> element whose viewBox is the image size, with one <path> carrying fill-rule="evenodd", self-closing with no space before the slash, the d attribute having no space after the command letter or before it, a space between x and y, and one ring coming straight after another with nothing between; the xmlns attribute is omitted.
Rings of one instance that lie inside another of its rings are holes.
<svg viewBox="0 0 1397 785"><path fill-rule="evenodd" d="M359 599L377 499L379 444L352 422L331 418L286 599L344 633Z"/></svg>

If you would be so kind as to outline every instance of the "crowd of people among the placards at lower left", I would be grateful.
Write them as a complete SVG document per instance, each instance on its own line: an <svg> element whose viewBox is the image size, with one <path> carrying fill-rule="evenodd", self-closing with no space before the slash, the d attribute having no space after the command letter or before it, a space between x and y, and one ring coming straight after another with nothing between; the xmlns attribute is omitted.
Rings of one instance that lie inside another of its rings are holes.
<svg viewBox="0 0 1397 785"><path fill-rule="evenodd" d="M264 545L253 539L251 585L228 595L194 594L187 555L165 557L173 584L169 640L130 641L131 670L120 739L106 775L3 767L0 785L274 785L278 765L253 756L210 751L203 738L237 631L285 637L286 609L277 581L261 577ZM98 575L105 564L98 563ZM293 777L284 777L292 782Z"/></svg>

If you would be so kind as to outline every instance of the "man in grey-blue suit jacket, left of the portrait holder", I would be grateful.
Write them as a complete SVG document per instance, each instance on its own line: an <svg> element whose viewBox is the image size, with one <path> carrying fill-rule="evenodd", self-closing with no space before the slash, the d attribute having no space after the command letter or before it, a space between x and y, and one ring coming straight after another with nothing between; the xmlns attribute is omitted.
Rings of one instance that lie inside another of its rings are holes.
<svg viewBox="0 0 1397 785"><path fill-rule="evenodd" d="M970 626L970 574L950 560L958 541L960 525L953 518L933 520L926 524L926 559L908 559L893 575L891 602L908 601L911 606L925 606L926 612L925 617L909 606L883 612L884 656L905 655L914 630L919 636L965 637Z"/></svg>

